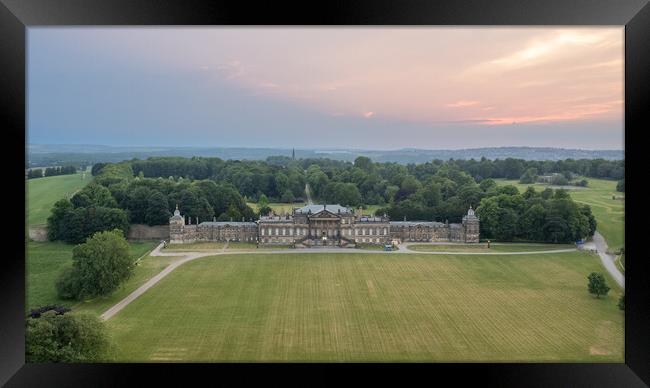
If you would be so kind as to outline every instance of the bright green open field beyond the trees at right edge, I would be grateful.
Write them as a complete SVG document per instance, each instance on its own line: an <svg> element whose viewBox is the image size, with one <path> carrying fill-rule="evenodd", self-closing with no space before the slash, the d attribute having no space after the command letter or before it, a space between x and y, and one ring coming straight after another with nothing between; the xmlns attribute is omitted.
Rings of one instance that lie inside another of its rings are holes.
<svg viewBox="0 0 650 388"><path fill-rule="evenodd" d="M569 190L571 198L576 202L591 206L591 211L598 222L598 232L603 235L611 251L618 251L625 244L625 194L616 191L616 181L585 179L589 181L589 186ZM514 185L520 192L531 186L520 184L516 180L495 179L495 181L500 185ZM546 185L539 183L532 186L537 191L546 188ZM615 196L616 199L612 199L612 196Z"/></svg>

